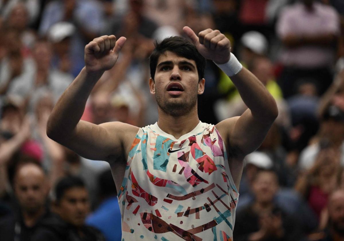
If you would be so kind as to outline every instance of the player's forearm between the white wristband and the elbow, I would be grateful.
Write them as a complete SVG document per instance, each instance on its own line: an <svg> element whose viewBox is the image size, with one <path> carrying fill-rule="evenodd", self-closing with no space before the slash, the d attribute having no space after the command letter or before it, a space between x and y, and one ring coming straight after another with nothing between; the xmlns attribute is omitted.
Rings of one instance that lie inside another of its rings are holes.
<svg viewBox="0 0 344 241"><path fill-rule="evenodd" d="M275 99L250 71L243 68L230 77L252 116L261 121L273 121L278 115Z"/></svg>

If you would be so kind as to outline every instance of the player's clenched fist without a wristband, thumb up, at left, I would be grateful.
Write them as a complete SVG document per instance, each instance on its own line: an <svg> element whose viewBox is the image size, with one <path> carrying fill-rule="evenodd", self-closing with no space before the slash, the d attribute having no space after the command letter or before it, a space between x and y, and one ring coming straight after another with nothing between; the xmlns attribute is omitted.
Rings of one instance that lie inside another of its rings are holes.
<svg viewBox="0 0 344 241"><path fill-rule="evenodd" d="M115 35L95 38L85 46L85 67L87 72L104 72L111 69L126 42L125 37L116 41Z"/></svg>

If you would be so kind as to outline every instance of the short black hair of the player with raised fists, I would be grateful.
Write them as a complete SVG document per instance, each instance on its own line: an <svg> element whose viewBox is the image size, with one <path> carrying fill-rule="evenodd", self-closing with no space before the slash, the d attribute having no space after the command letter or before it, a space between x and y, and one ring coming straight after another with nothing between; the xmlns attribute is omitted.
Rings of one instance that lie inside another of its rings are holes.
<svg viewBox="0 0 344 241"><path fill-rule="evenodd" d="M166 51L171 51L178 56L184 57L189 60L194 60L196 62L198 80L201 80L204 77L206 59L198 52L195 45L186 38L173 36L165 38L161 42L158 42L156 40L154 45L155 49L149 57L150 74L153 80L155 70L157 69L158 65L158 59L160 55L165 53Z"/></svg>

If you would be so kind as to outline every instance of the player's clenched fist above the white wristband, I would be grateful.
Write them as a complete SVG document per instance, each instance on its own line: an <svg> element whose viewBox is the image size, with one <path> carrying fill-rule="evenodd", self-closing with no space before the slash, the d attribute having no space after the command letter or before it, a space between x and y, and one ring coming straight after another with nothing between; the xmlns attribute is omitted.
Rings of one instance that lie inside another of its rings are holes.
<svg viewBox="0 0 344 241"><path fill-rule="evenodd" d="M184 33L191 39L198 52L206 59L217 64L224 64L230 58L230 41L218 30L206 29L198 34L189 28L183 28Z"/></svg>

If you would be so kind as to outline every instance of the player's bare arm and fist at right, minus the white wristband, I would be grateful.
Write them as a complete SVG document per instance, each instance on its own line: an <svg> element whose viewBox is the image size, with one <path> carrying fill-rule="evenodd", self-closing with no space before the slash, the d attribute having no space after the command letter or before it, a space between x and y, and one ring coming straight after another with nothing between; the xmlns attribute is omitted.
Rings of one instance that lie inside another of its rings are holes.
<svg viewBox="0 0 344 241"><path fill-rule="evenodd" d="M183 30L206 59L211 59L216 64L229 61L232 56L230 42L220 31L206 29L197 36L189 27L184 27ZM240 117L218 123L216 128L230 152L229 167L238 188L243 171L243 158L261 145L278 116L278 110L275 100L265 86L247 69L243 68L230 77L248 109Z"/></svg>

